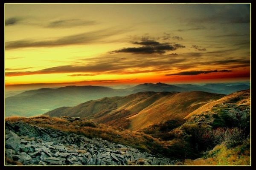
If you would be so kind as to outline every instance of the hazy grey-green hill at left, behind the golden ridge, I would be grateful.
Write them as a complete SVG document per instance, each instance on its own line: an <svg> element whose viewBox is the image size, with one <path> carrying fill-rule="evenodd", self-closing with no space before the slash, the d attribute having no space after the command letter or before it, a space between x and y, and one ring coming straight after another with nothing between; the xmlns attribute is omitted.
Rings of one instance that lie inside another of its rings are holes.
<svg viewBox="0 0 256 170"><path fill-rule="evenodd" d="M61 106L75 106L88 100L119 95L127 95L127 92L101 86L42 88L7 97L5 111L6 116L35 116Z"/></svg>

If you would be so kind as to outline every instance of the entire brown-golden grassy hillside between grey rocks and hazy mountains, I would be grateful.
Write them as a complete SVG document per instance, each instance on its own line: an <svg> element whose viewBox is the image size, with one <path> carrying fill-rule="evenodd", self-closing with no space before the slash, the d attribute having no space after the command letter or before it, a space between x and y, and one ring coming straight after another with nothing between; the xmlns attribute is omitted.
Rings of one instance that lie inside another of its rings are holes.
<svg viewBox="0 0 256 170"><path fill-rule="evenodd" d="M193 114L189 114L191 112ZM60 117L62 113L86 116L70 121ZM27 122L106 139L175 159L177 165L251 163L250 90L227 96L200 91L141 92L63 107L49 112L51 114L59 117L16 116L7 117L6 122ZM141 121L137 122L139 128L133 127L132 121L137 120L137 116L149 119L150 123Z"/></svg>

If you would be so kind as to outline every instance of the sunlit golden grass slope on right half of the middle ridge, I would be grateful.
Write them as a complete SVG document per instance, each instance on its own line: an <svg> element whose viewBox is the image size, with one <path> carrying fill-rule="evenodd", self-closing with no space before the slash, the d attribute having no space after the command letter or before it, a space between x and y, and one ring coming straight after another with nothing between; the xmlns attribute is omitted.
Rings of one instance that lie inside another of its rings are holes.
<svg viewBox="0 0 256 170"><path fill-rule="evenodd" d="M150 107L128 118L131 121L130 130L141 130L150 125L170 119L184 119L187 115L212 100L223 97L221 94L192 91L173 93L163 96Z"/></svg>

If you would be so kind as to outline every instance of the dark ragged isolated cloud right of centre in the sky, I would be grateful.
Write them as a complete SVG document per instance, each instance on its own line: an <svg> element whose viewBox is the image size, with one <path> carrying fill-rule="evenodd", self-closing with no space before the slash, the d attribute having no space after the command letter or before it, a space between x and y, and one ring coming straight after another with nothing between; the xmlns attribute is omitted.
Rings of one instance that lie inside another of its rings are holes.
<svg viewBox="0 0 256 170"><path fill-rule="evenodd" d="M164 54L166 51L174 51L177 48L185 48L184 45L169 43L160 43L154 40L143 40L141 42L133 42L133 44L144 45L142 47L128 47L111 51L112 53L133 53L133 54Z"/></svg>

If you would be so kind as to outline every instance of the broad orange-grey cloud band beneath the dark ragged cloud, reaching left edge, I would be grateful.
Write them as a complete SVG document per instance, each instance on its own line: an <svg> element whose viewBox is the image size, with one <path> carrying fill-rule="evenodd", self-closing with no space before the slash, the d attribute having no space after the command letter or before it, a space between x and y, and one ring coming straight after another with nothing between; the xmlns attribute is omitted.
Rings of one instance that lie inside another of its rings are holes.
<svg viewBox="0 0 256 170"><path fill-rule="evenodd" d="M129 58L120 57L119 54L112 54L110 56L102 56L97 58L91 58L80 60L84 64L79 65L61 65L51 68L45 68L38 71L10 71L6 72L6 77L12 76L26 76L34 74L61 74L61 73L73 73L72 76L89 76L98 74L134 74L131 70L136 70L137 73L142 72L154 72L154 71L166 71L170 69L169 65L184 62L184 58L172 57L169 55L163 55L161 58L158 56L151 56L145 59L143 55L136 55Z"/></svg>

